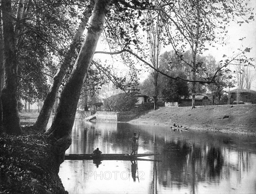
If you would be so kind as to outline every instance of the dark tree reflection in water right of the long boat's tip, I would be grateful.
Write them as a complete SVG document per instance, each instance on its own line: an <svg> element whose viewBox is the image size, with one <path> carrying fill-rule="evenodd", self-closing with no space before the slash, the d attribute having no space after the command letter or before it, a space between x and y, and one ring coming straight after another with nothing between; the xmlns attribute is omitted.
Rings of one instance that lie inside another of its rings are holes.
<svg viewBox="0 0 256 194"><path fill-rule="evenodd" d="M223 167L220 148L180 140L170 142L164 148L160 158L163 163L158 167L159 181L164 187L191 185L191 193L195 193L196 183L220 179Z"/></svg>

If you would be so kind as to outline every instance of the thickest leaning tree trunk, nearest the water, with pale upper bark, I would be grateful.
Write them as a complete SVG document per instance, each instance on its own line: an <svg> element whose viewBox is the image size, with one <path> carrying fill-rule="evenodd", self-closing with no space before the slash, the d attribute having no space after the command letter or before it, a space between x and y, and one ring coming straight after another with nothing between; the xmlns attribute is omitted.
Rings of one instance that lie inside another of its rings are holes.
<svg viewBox="0 0 256 194"><path fill-rule="evenodd" d="M108 7L108 0L96 0L84 43L76 59L73 71L61 92L59 105L52 126L46 132L49 136L57 139L70 136L76 116L76 107L81 88L87 76L88 69L90 68L100 34L102 33ZM63 146L63 148L67 148L67 146ZM64 154L64 152L61 154Z"/></svg>

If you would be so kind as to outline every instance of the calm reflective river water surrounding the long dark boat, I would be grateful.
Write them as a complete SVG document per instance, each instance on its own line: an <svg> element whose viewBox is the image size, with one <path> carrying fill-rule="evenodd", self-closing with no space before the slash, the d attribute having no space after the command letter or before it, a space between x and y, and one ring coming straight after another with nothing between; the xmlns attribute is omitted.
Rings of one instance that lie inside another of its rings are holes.
<svg viewBox="0 0 256 194"><path fill-rule="evenodd" d="M198 131L173 131L163 126L76 121L66 153L131 153L131 137L140 131L138 153L161 153L131 162L66 160L59 175L72 193L255 193L256 138ZM139 172L139 173L138 173ZM139 178L138 178L139 177Z"/></svg>

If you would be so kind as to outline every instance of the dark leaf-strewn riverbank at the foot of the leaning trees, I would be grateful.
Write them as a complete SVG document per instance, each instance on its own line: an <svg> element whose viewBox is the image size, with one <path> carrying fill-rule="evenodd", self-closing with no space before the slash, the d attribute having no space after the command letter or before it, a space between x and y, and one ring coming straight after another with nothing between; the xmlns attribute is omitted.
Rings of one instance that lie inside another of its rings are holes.
<svg viewBox="0 0 256 194"><path fill-rule="evenodd" d="M43 134L0 136L1 194L67 194L52 140Z"/></svg>

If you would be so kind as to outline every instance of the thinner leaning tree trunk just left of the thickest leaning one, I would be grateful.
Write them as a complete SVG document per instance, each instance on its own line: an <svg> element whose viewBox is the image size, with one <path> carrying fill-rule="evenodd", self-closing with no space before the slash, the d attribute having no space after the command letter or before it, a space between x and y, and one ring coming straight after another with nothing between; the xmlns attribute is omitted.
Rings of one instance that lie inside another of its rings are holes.
<svg viewBox="0 0 256 194"><path fill-rule="evenodd" d="M58 69L57 73L53 78L52 85L50 86L46 99L44 100L44 105L34 125L34 127L39 131L46 130L47 123L51 115L52 107L54 105L59 86L61 85L61 81L66 73L67 67L71 63L72 56L75 54L76 48L80 42L80 38L84 33L86 24L89 20L89 17L91 16L93 6L94 0L90 2L90 6L87 8L86 11L84 11L84 18L82 18L79 28L77 29L76 34L73 37L72 43L66 54L66 57L64 58L64 61L61 63L60 68Z"/></svg>

